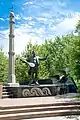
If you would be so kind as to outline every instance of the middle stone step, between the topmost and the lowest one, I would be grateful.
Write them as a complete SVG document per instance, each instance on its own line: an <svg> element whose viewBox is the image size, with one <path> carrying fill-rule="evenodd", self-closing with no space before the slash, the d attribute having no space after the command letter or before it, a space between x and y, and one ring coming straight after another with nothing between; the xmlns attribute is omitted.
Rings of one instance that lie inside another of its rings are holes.
<svg viewBox="0 0 80 120"><path fill-rule="evenodd" d="M3 109L3 110L0 110L0 115L16 114L16 113L28 113L28 112L40 112L40 111L74 110L74 109L80 110L80 105Z"/></svg>

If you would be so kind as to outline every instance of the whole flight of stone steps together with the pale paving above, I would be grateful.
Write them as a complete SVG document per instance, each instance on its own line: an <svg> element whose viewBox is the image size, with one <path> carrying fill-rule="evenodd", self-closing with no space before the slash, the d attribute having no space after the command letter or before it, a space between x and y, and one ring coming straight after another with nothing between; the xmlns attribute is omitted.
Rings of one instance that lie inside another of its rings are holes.
<svg viewBox="0 0 80 120"><path fill-rule="evenodd" d="M41 97L1 99L0 103L0 120L80 115L80 99Z"/></svg>

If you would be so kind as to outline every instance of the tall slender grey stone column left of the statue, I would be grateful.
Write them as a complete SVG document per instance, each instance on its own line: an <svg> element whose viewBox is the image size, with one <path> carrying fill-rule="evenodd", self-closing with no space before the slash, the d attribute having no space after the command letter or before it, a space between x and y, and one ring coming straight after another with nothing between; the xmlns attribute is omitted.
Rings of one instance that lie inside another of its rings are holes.
<svg viewBox="0 0 80 120"><path fill-rule="evenodd" d="M15 81L15 60L14 60L14 13L10 12L10 32L9 32L9 70L8 83L16 83Z"/></svg>

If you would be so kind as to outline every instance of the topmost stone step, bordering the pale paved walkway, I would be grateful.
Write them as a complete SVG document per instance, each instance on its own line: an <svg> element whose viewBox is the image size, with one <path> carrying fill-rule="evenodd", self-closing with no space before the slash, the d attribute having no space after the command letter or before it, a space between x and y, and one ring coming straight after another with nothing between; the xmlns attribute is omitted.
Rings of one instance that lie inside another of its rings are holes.
<svg viewBox="0 0 80 120"><path fill-rule="evenodd" d="M65 102L54 102L54 103L43 103L43 104L32 104L32 105L10 105L0 106L1 110L4 109L18 109L18 108L33 108L33 107L50 107L50 106L68 106L68 105L80 105L80 101L65 101Z"/></svg>

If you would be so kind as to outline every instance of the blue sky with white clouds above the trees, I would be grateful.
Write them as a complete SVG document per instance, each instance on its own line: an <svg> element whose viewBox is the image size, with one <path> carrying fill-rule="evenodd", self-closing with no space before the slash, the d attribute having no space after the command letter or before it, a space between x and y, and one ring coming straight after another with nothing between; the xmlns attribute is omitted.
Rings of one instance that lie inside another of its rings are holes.
<svg viewBox="0 0 80 120"><path fill-rule="evenodd" d="M9 15L15 15L15 53L20 54L29 41L74 32L80 19L80 0L0 0L0 47L9 51Z"/></svg>

